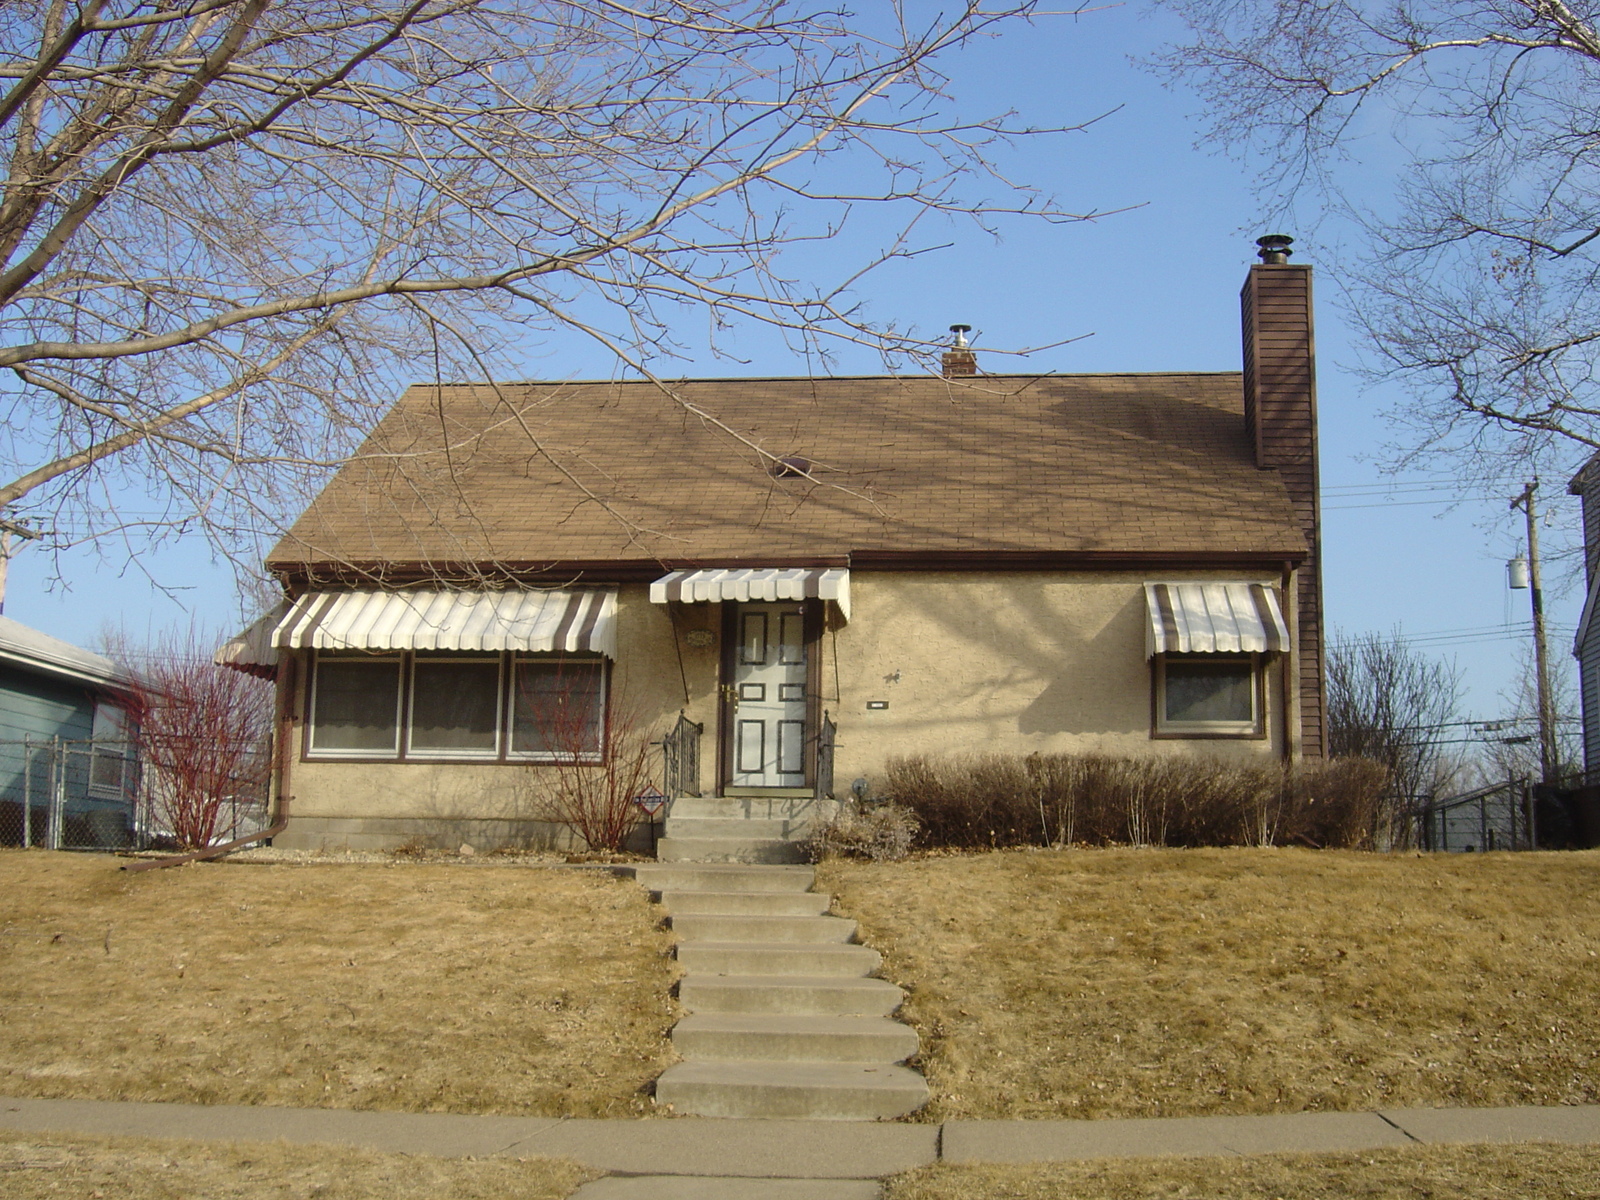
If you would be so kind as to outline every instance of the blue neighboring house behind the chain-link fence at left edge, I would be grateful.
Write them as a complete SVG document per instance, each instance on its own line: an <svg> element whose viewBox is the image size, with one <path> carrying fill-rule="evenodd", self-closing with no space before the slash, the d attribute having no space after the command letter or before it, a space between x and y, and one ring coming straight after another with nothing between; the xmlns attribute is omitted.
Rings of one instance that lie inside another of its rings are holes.
<svg viewBox="0 0 1600 1200"><path fill-rule="evenodd" d="M131 845L125 701L109 658L0 616L0 845Z"/></svg>

